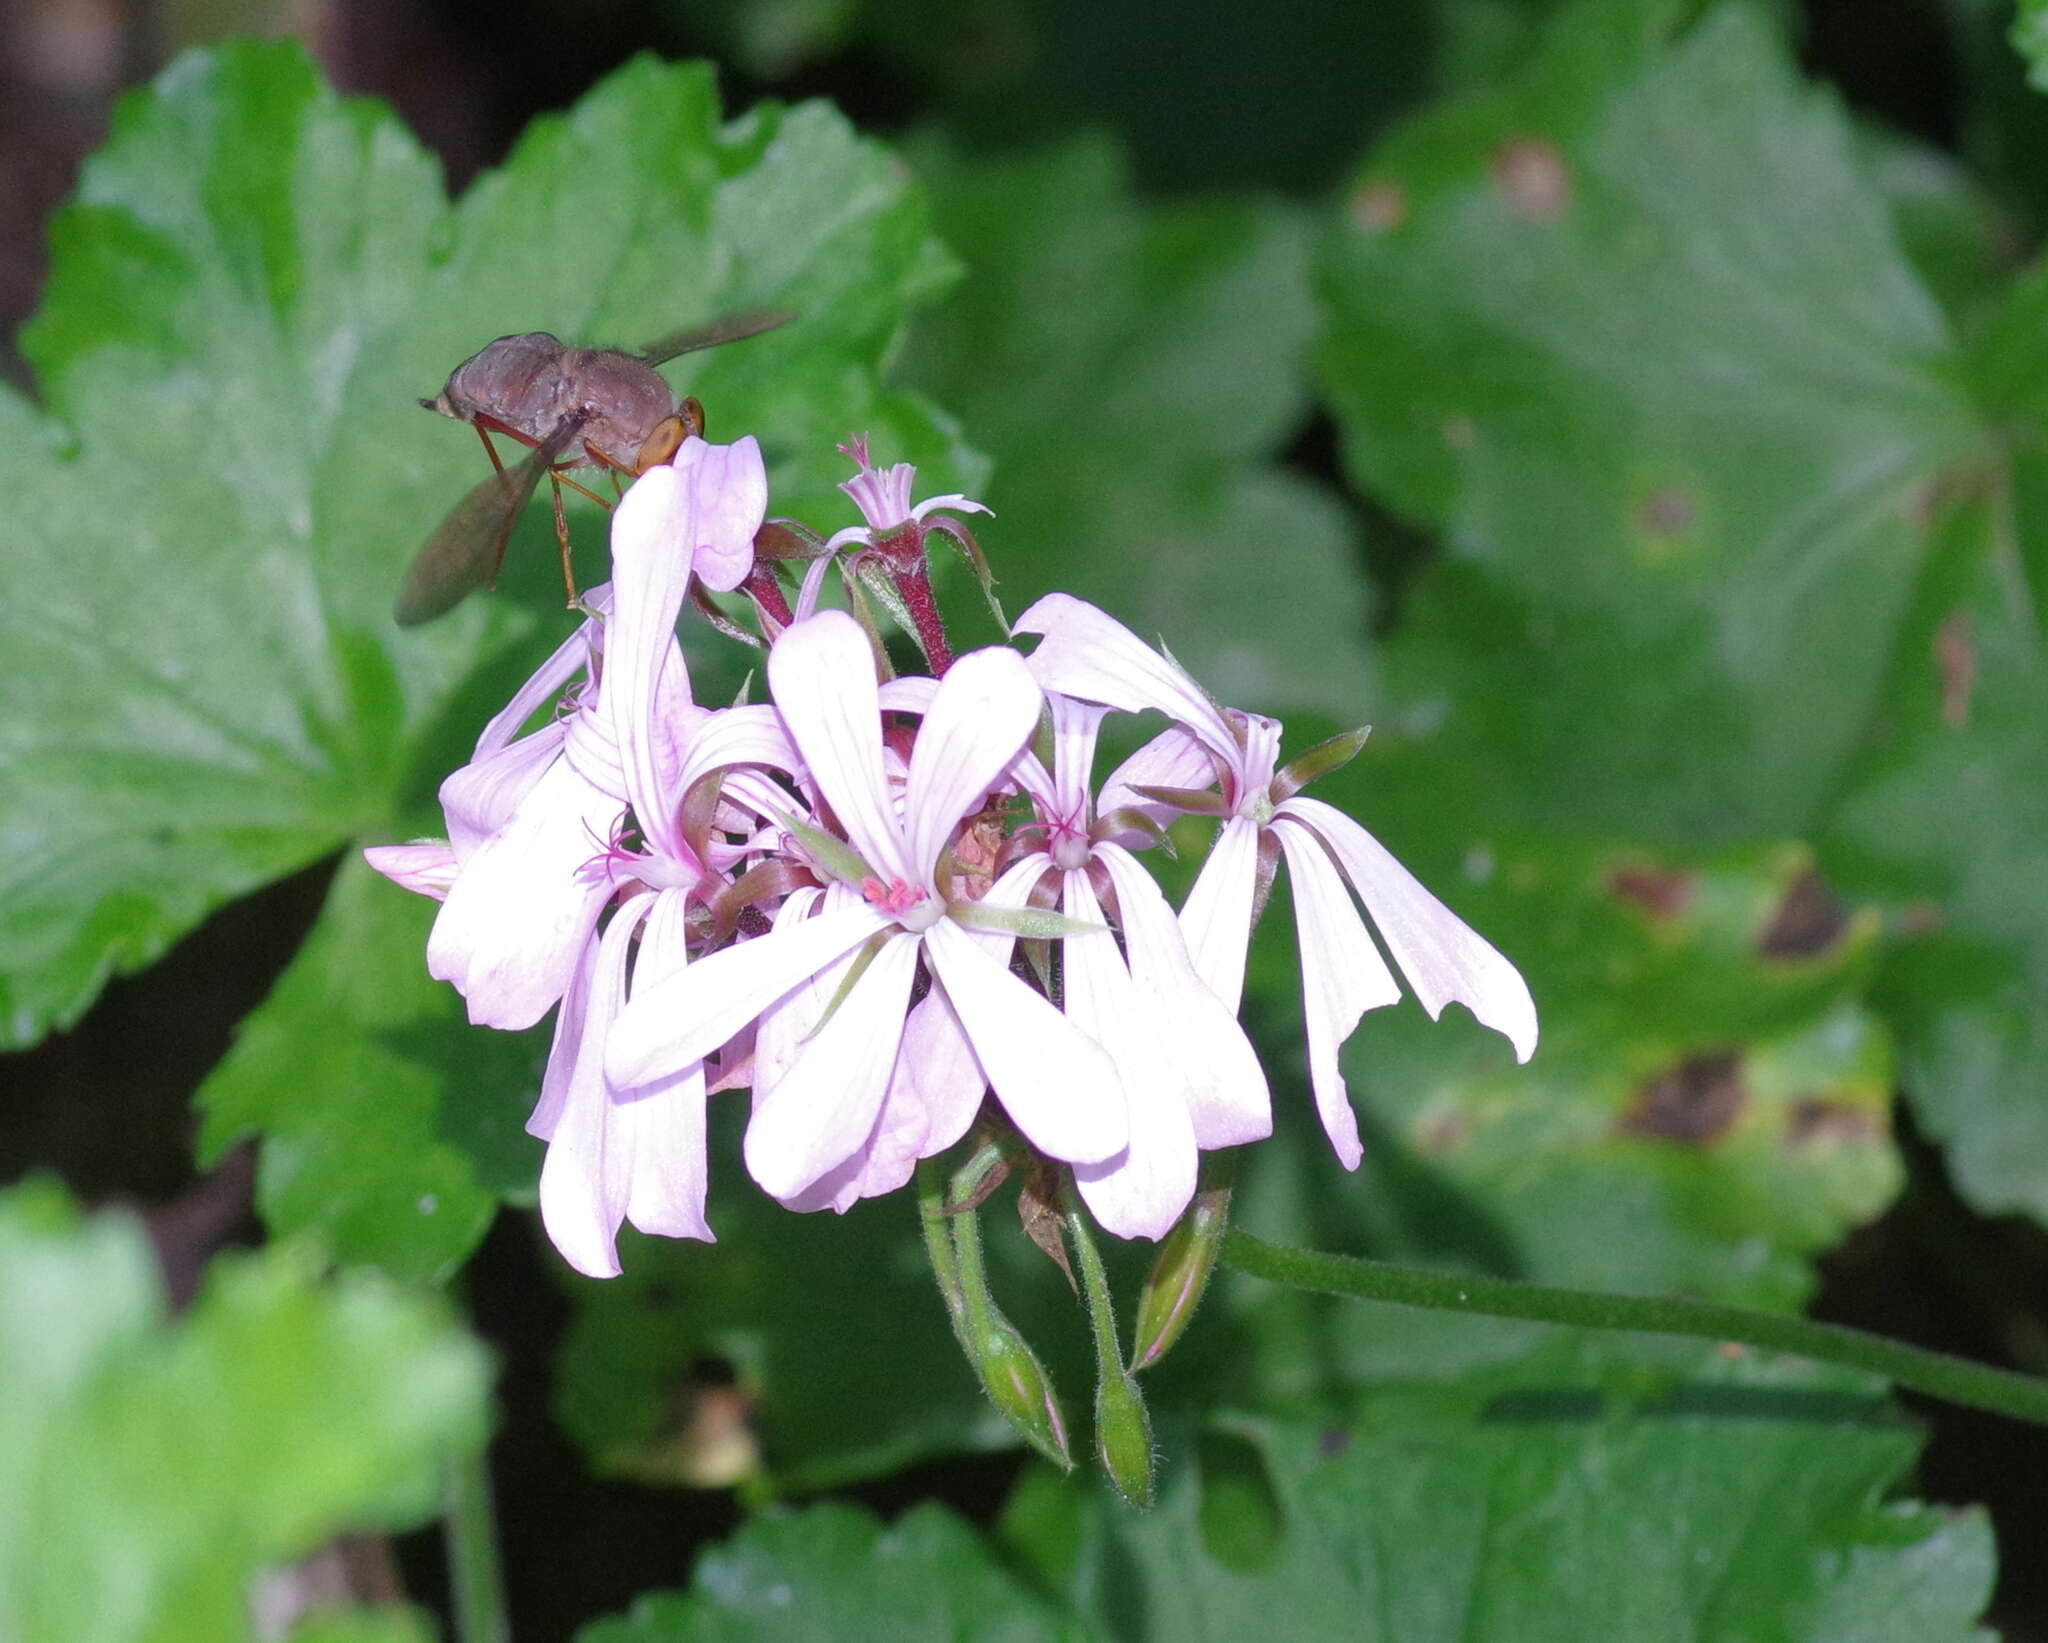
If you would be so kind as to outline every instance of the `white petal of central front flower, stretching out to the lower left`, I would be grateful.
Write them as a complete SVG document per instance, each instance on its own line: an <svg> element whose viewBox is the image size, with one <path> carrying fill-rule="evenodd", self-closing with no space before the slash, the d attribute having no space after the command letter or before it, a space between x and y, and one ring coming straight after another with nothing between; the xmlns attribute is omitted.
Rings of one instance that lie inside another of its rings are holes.
<svg viewBox="0 0 2048 1643"><path fill-rule="evenodd" d="M612 1084L647 1084L702 1061L774 1000L883 928L866 903L719 949L643 992L612 1024Z"/></svg>

